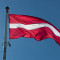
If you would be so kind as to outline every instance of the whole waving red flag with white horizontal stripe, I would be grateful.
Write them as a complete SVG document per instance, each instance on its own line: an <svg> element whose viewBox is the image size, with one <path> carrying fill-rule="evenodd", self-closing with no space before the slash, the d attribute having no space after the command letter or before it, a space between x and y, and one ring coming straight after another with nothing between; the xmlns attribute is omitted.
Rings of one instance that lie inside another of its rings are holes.
<svg viewBox="0 0 60 60"><path fill-rule="evenodd" d="M37 41L52 38L60 44L60 31L51 23L33 16L9 14L9 39L20 37Z"/></svg>

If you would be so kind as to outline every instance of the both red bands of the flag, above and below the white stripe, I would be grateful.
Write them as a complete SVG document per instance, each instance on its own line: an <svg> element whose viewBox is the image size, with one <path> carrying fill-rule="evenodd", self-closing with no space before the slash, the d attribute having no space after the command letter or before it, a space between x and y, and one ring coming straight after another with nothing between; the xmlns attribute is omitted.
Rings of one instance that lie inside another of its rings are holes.
<svg viewBox="0 0 60 60"><path fill-rule="evenodd" d="M9 14L9 23L22 23L22 24L35 24L35 23L48 23L49 22L32 16L26 16L26 15L15 15L15 14ZM52 25L52 24L50 24ZM53 25L52 25L53 26ZM55 26L53 26L56 30L58 30ZM59 30L58 30L59 31ZM34 30L26 30L24 28L16 28L12 29L9 28L9 39L16 39L20 37L27 37L27 38L35 38L37 41L46 39L46 38L52 38L54 39L58 44L60 44L60 37L56 36L52 30L48 27L38 28Z"/></svg>

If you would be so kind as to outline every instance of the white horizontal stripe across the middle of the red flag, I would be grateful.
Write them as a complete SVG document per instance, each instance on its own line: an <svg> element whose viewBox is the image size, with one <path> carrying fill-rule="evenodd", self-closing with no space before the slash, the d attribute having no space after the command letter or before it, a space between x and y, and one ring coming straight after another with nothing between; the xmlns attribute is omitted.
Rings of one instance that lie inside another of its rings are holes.
<svg viewBox="0 0 60 60"><path fill-rule="evenodd" d="M15 23L15 24L10 23L9 28L12 28L12 29L24 28L24 29L27 29L27 30L33 30L33 29L42 28L42 27L49 27L56 36L60 37L59 31L57 31L52 25L47 24L47 23L29 24L29 25L24 25L24 24L20 24L20 23Z"/></svg>

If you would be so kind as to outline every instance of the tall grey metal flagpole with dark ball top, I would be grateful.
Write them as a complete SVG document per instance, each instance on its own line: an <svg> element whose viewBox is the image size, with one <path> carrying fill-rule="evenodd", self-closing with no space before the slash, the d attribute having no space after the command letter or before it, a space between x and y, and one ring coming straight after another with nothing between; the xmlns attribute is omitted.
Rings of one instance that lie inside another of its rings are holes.
<svg viewBox="0 0 60 60"><path fill-rule="evenodd" d="M9 7L6 7L6 21L5 21L5 37L3 43L3 60L6 60L6 48L7 48L7 17L8 17Z"/></svg>

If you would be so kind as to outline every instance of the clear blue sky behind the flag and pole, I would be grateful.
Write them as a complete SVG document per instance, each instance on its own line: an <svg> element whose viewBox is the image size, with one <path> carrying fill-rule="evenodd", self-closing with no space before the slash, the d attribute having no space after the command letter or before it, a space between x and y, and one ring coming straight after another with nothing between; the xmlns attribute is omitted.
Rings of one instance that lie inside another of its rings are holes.
<svg viewBox="0 0 60 60"><path fill-rule="evenodd" d="M0 60L3 60L5 33L5 7L9 14L30 15L45 19L60 29L60 0L0 0ZM9 40L9 19L7 25L6 60L60 60L60 46L51 38L36 41L33 38Z"/></svg>

